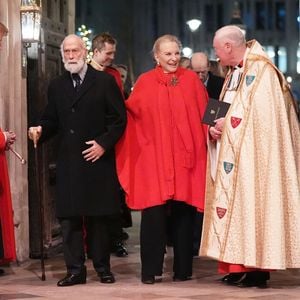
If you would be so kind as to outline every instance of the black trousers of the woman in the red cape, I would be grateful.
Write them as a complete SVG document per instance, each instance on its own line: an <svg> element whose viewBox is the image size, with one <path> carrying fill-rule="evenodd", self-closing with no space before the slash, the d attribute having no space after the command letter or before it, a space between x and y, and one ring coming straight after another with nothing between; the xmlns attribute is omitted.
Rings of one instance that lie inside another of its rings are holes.
<svg viewBox="0 0 300 300"><path fill-rule="evenodd" d="M180 201L169 201L166 205L142 211L140 232L142 276L162 275L168 213L171 218L174 276L177 278L192 276L195 212L194 207Z"/></svg>

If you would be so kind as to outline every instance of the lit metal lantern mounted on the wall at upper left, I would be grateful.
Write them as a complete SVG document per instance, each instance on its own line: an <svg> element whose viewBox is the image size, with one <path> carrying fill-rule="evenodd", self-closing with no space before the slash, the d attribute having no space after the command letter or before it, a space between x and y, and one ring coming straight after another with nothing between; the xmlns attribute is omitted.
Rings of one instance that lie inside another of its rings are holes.
<svg viewBox="0 0 300 300"><path fill-rule="evenodd" d="M39 42L41 31L42 1L22 0L20 11L22 23L22 41L29 44Z"/></svg>

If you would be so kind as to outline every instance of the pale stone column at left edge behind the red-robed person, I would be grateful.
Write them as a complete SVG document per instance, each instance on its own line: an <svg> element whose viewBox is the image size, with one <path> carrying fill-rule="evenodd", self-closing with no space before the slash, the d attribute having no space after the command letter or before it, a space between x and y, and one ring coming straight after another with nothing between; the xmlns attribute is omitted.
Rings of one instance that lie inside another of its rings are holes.
<svg viewBox="0 0 300 300"><path fill-rule="evenodd" d="M0 127L17 134L13 146L27 159L26 79L21 75L20 0L0 1L0 21L9 34L0 51ZM18 261L29 255L28 176L27 165L7 152L10 185L14 208L15 236Z"/></svg>

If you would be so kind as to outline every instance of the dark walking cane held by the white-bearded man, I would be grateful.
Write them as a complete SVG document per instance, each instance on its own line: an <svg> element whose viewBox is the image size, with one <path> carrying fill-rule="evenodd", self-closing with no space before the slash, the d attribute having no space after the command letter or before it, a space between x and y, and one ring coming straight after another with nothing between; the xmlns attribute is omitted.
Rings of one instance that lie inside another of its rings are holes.
<svg viewBox="0 0 300 300"><path fill-rule="evenodd" d="M34 140L34 160L35 160L35 178L36 178L36 187L37 187L37 196L38 196L38 203L40 209L40 253L41 253L41 270L42 270L42 281L46 280L46 273L45 273L45 259L44 259L44 203L42 199L42 187L40 185L40 174L39 174L39 160L38 160L38 148L37 148L37 141Z"/></svg>

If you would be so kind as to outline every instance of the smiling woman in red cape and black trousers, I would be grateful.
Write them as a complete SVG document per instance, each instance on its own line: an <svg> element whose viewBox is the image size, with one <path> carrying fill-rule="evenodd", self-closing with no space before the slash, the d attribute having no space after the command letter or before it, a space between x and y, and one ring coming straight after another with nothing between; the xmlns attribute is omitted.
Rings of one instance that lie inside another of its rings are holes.
<svg viewBox="0 0 300 300"><path fill-rule="evenodd" d="M117 146L117 170L131 209L141 210L142 282L162 275L170 214L173 279L192 276L193 220L205 194L207 103L196 73L179 67L181 44L164 35L153 46L157 66L140 76L126 101L128 124Z"/></svg>

